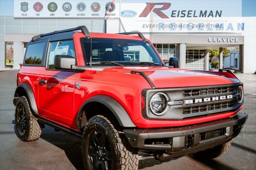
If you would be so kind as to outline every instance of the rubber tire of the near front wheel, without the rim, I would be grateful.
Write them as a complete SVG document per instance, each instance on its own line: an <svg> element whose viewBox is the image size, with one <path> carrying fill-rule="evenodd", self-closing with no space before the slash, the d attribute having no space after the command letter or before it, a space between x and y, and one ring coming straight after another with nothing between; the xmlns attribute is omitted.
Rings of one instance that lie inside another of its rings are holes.
<svg viewBox="0 0 256 170"><path fill-rule="evenodd" d="M116 126L118 127L118 126ZM126 141L124 133L118 131L114 125L104 116L97 115L92 117L86 124L82 136L82 156L84 166L87 170L93 169L88 156L86 156L86 149L88 150L88 142L90 140L90 131L93 128L101 128L105 130L106 135L109 136L110 145L114 148L112 156L111 169L112 170L137 170L138 169L138 152L132 148Z"/></svg>

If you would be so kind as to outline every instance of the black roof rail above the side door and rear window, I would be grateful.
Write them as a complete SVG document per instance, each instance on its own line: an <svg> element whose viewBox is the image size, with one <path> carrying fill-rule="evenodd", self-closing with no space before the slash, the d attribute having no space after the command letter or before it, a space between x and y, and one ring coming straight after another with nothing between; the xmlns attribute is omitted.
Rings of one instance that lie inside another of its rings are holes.
<svg viewBox="0 0 256 170"><path fill-rule="evenodd" d="M70 29L66 29L66 30L54 31L54 32L46 33L46 34L39 34L39 35L34 36L32 38L32 42L36 41L40 37L50 36L50 35L59 34L59 33L63 33L63 32L72 32L72 31L77 31L77 30L81 30L82 33L84 33L85 37L90 37L90 32L88 31L86 26L78 26L76 28L70 28Z"/></svg>

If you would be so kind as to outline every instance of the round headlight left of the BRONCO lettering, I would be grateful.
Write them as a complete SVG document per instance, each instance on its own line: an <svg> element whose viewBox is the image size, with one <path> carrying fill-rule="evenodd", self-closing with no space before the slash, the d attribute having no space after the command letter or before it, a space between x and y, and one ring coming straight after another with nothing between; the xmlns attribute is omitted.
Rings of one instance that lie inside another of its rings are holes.
<svg viewBox="0 0 256 170"><path fill-rule="evenodd" d="M150 110L157 116L164 115L170 108L168 101L168 95L162 92L156 93L150 99Z"/></svg>

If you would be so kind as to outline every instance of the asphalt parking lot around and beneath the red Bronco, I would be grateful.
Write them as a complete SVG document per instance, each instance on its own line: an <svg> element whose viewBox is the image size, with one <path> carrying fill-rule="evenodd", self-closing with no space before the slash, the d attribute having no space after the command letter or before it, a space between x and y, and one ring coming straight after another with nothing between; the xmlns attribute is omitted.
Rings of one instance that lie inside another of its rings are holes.
<svg viewBox="0 0 256 170"><path fill-rule="evenodd" d="M14 132L12 103L18 70L0 71L0 170L10 169L83 169L80 140L55 132L46 126L39 140L22 142ZM185 156L169 162L141 160L144 170L256 169L256 75L236 73L244 83L244 107L249 114L241 133L228 152L214 160L196 160Z"/></svg>

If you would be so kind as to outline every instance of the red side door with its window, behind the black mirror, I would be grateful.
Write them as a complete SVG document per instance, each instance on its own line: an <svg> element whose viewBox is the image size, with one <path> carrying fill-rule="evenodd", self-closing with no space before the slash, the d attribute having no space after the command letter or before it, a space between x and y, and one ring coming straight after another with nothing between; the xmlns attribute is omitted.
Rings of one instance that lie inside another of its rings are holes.
<svg viewBox="0 0 256 170"><path fill-rule="evenodd" d="M74 88L77 72L54 69L55 55L76 57L73 40L50 42L46 67L38 87L39 113L56 123L70 126L74 114Z"/></svg>

